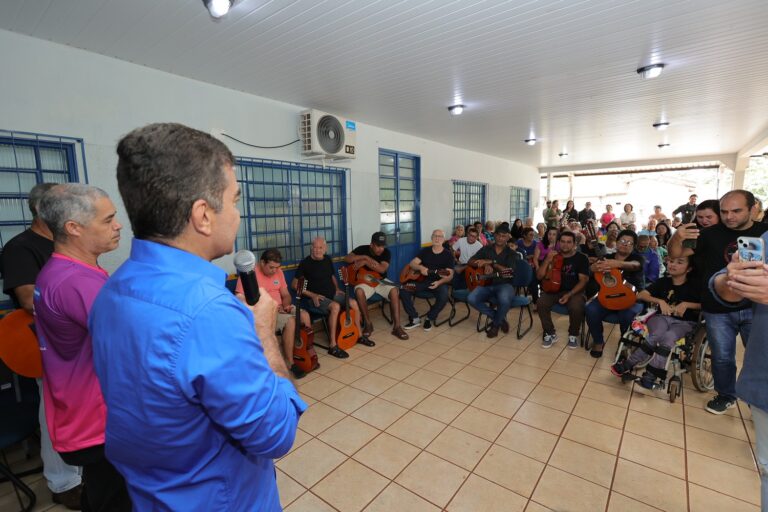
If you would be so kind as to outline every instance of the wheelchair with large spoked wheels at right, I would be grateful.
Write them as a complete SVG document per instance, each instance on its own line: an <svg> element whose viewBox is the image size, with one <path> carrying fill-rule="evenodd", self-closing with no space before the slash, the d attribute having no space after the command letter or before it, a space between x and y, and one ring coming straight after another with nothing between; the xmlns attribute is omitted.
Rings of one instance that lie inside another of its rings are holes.
<svg viewBox="0 0 768 512"><path fill-rule="evenodd" d="M619 339L614 364L626 360L634 350L643 350L641 347L645 339L644 333L638 333L630 327ZM696 327L690 333L677 340L672 349L653 347L653 354L648 354L648 357L635 365L634 369L645 368L654 354L660 354L667 358L664 366L666 377L661 380L659 387L667 391L671 403L674 403L682 395L683 375L686 373L690 374L693 387L697 391L703 393L714 388L712 352L702 317L699 317ZM634 373L621 376L622 382L634 382L639 379L640 377Z"/></svg>

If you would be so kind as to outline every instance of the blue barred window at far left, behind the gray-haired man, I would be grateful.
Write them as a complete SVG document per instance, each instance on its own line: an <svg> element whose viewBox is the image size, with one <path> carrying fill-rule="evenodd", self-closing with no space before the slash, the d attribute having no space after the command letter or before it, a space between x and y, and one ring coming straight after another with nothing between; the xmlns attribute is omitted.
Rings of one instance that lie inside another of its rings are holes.
<svg viewBox="0 0 768 512"><path fill-rule="evenodd" d="M82 139L0 130L0 249L32 224L32 187L77 182L78 165L87 178ZM9 304L0 291L0 305Z"/></svg>

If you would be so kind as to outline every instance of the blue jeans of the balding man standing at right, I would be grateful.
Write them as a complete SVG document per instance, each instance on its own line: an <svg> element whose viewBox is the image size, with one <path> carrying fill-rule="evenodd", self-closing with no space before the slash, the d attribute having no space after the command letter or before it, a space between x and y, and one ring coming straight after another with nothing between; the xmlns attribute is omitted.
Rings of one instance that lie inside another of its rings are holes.
<svg viewBox="0 0 768 512"><path fill-rule="evenodd" d="M712 350L712 376L717 394L736 399L736 334L744 345L752 330L752 308L731 313L704 313Z"/></svg>

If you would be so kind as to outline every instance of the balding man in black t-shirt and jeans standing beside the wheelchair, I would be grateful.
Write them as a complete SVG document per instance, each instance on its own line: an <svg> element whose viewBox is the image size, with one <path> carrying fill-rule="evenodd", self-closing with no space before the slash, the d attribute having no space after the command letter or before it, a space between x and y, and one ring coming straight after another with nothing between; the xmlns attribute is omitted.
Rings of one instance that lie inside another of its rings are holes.
<svg viewBox="0 0 768 512"><path fill-rule="evenodd" d="M705 407L712 414L724 414L736 405L736 334L741 334L742 342L746 344L752 327L752 310L746 303L724 306L707 284L730 263L739 237L759 237L768 230L768 225L752 220L755 204L752 192L732 190L720 198L721 223L703 229L696 224L684 224L667 244L670 259L693 255L699 275L701 306L712 349L712 375L717 392ZM696 248L685 247L687 240L694 240Z"/></svg>

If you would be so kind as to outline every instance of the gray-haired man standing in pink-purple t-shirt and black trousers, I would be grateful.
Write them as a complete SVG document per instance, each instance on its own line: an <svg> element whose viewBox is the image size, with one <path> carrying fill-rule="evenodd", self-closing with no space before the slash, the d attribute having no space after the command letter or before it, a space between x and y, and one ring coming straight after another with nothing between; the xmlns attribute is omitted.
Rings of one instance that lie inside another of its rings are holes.
<svg viewBox="0 0 768 512"><path fill-rule="evenodd" d="M107 411L88 332L88 313L108 277L97 259L117 248L122 226L107 194L79 183L50 189L39 213L54 242L33 298L51 442L64 462L83 466L84 510L130 511L125 481L104 456Z"/></svg>

